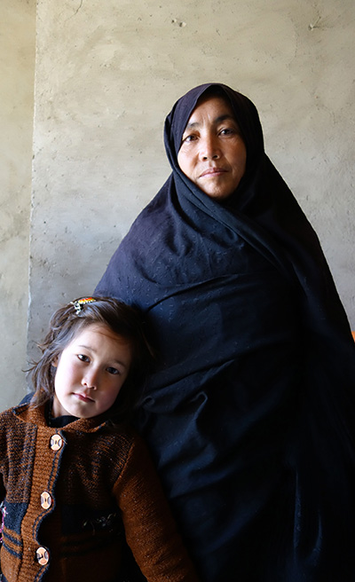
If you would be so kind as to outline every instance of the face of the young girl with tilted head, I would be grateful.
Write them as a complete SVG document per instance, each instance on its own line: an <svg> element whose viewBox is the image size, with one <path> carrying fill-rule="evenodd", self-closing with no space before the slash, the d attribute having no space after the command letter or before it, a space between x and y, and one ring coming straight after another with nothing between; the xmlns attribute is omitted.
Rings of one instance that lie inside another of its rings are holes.
<svg viewBox="0 0 355 582"><path fill-rule="evenodd" d="M105 413L114 405L130 363L130 342L103 324L85 327L53 362L52 415L91 418Z"/></svg>

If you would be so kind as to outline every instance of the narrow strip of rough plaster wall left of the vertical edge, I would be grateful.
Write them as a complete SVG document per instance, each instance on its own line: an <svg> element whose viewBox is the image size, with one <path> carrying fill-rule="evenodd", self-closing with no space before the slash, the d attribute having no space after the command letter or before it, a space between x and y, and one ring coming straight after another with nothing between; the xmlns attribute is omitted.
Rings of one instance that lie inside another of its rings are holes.
<svg viewBox="0 0 355 582"><path fill-rule="evenodd" d="M26 393L35 0L0 8L0 410Z"/></svg>

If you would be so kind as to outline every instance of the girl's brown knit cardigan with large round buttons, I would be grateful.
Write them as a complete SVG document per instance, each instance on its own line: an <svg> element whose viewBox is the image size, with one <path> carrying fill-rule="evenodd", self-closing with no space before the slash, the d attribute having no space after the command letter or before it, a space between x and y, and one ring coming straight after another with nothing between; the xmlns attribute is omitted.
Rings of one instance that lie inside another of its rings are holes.
<svg viewBox="0 0 355 582"><path fill-rule="evenodd" d="M1 413L0 498L7 582L112 582L124 533L150 582L197 580L144 443L103 417L53 429L43 407Z"/></svg>

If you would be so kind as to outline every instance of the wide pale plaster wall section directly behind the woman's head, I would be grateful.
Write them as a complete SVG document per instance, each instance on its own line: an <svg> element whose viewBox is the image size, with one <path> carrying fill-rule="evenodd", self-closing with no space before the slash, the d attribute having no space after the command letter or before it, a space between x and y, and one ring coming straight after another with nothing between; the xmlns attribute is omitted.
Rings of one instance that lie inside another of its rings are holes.
<svg viewBox="0 0 355 582"><path fill-rule="evenodd" d="M38 0L28 356L168 177L164 117L209 81L256 103L355 328L354 22L353 0Z"/></svg>

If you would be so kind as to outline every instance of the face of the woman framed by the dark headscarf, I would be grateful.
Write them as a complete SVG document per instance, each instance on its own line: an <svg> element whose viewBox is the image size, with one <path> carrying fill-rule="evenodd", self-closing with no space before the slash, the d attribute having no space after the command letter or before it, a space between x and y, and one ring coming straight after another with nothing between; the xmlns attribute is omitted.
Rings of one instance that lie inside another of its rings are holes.
<svg viewBox="0 0 355 582"><path fill-rule="evenodd" d="M237 188L245 173L247 149L224 98L198 102L185 127L177 162L210 198L224 200Z"/></svg>

